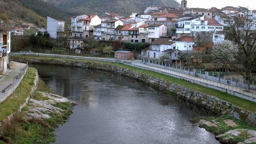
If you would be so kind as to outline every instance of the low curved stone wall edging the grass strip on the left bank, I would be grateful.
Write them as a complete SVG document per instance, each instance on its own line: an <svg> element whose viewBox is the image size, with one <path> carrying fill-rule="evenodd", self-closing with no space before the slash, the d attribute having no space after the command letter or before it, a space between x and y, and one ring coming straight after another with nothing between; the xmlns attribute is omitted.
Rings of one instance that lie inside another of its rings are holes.
<svg viewBox="0 0 256 144"><path fill-rule="evenodd" d="M31 92L29 93L28 97L26 98L26 101L24 102L24 104L19 106L19 109L17 109L17 111L8 115L6 119L4 119L3 121L0 122L0 133L2 132L3 123L6 123L6 122L9 123L12 120L13 116L19 114L22 111L22 109L27 105L30 97L33 95L34 91L37 89L38 81L39 81L39 77L38 77L38 72L36 71L34 86L32 86Z"/></svg>

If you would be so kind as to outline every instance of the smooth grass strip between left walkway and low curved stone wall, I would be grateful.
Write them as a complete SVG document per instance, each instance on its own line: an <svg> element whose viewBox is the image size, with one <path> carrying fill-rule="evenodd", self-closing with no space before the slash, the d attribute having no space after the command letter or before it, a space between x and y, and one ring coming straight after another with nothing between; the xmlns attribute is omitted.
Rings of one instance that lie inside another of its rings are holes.
<svg viewBox="0 0 256 144"><path fill-rule="evenodd" d="M29 67L14 93L0 104L0 121L4 120L8 115L17 111L19 106L24 104L26 98L31 92L32 86L34 85L35 75L36 69Z"/></svg>

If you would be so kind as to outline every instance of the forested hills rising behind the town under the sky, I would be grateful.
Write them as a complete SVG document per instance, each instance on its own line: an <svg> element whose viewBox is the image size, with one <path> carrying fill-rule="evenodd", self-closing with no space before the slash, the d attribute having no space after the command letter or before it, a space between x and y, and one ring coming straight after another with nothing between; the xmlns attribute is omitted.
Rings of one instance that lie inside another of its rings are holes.
<svg viewBox="0 0 256 144"><path fill-rule="evenodd" d="M129 16L142 13L147 6L179 6L175 0L0 0L1 15L9 19L22 19L23 22L46 27L46 17L56 17L67 22L78 14L97 14L105 12Z"/></svg>

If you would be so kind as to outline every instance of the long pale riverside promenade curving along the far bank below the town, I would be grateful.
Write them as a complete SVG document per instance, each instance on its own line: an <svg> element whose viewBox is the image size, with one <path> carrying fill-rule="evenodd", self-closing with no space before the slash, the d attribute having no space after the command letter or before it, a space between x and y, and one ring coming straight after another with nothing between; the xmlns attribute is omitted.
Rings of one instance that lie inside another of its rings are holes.
<svg viewBox="0 0 256 144"><path fill-rule="evenodd" d="M256 102L256 91L250 90L247 91L245 88L240 88L237 86L231 86L225 83L218 81L213 81L201 77L197 77L190 74L184 74L175 70L170 70L167 68L156 67L153 65L148 65L147 63L142 62L141 60L128 61L128 60L115 60L114 58L97 58L97 57L84 57L84 56L70 56L70 55L61 55L61 54L43 54L43 53L10 53L10 56L44 56L44 57L60 57L60 58L75 58L75 59L85 59L85 60L95 60L95 61L107 61L113 63L122 63L125 65L130 65L133 67L138 67L141 69L151 70L154 72L166 74L172 77L181 78L192 83L196 83L205 87L213 88L220 90L237 97Z"/></svg>

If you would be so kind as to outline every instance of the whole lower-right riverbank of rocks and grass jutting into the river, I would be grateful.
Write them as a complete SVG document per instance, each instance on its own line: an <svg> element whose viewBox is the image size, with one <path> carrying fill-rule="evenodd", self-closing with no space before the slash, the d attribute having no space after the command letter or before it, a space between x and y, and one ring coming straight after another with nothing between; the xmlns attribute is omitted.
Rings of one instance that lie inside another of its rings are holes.
<svg viewBox="0 0 256 144"><path fill-rule="evenodd" d="M215 138L223 144L255 144L256 128L231 116L191 118L199 127L214 133Z"/></svg>

